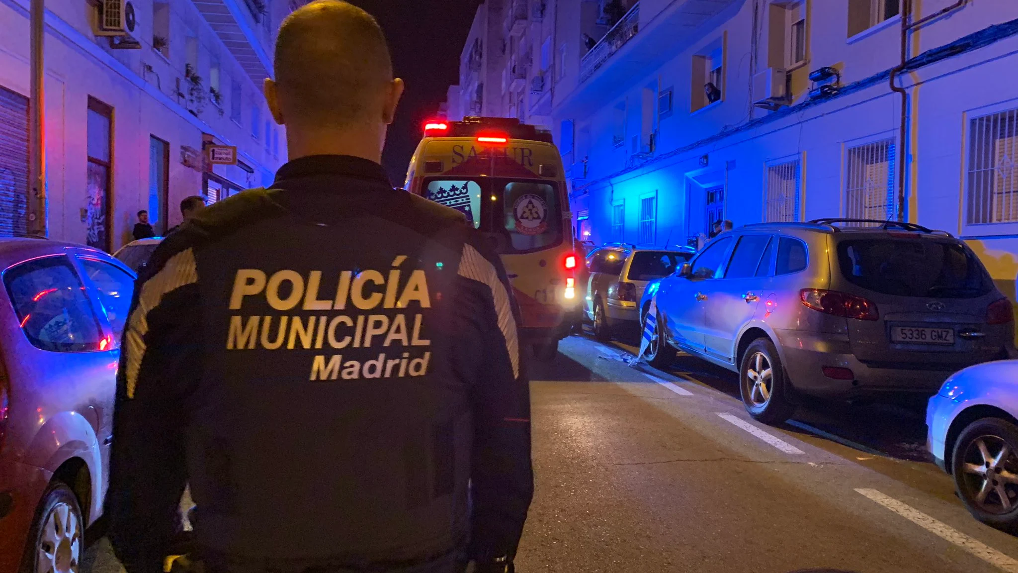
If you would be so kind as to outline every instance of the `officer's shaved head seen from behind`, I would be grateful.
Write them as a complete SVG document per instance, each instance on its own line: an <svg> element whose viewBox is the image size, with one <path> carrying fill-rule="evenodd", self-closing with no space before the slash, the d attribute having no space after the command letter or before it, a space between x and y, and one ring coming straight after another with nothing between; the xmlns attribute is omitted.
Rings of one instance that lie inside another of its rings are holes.
<svg viewBox="0 0 1018 573"><path fill-rule="evenodd" d="M380 131L384 139L403 90L393 80L378 22L341 0L316 0L283 21L275 72L275 82L266 81L266 97L273 116L287 126L291 157L295 145L351 129Z"/></svg>

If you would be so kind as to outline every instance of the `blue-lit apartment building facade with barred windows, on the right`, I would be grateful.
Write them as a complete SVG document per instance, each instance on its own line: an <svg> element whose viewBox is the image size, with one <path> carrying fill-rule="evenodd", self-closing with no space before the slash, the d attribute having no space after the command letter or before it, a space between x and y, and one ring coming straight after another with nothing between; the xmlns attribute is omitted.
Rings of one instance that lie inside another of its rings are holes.
<svg viewBox="0 0 1018 573"><path fill-rule="evenodd" d="M578 236L901 216L966 240L1015 299L1018 3L909 2L902 69L900 0L623 4L589 50L604 2L555 8L579 54L552 110Z"/></svg>

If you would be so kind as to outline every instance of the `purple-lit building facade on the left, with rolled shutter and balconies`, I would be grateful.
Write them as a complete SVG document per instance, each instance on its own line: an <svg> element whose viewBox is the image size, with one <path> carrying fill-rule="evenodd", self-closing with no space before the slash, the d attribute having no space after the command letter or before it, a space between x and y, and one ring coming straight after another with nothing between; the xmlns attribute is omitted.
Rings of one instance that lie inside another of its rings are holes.
<svg viewBox="0 0 1018 573"><path fill-rule="evenodd" d="M181 199L271 183L286 140L268 111L284 0L47 0L47 233L112 251L146 209L157 233ZM0 1L0 235L29 201L29 1ZM212 162L210 146L235 147Z"/></svg>

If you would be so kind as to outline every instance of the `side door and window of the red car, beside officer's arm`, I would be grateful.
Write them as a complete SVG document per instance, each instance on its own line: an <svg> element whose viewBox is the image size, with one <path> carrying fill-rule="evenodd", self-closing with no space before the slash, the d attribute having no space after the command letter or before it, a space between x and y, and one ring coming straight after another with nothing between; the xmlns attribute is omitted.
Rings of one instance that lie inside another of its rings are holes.
<svg viewBox="0 0 1018 573"><path fill-rule="evenodd" d="M134 294L134 276L111 262L90 255L79 255L77 263L84 279L86 290L92 294L96 313L107 328L106 336L110 341L106 349L108 364L119 364L120 342L130 311L131 297ZM113 388L116 387L116 373L115 367L106 372ZM109 462L109 440L113 436L112 406L110 402L98 409L100 439L104 442L102 451L104 464Z"/></svg>

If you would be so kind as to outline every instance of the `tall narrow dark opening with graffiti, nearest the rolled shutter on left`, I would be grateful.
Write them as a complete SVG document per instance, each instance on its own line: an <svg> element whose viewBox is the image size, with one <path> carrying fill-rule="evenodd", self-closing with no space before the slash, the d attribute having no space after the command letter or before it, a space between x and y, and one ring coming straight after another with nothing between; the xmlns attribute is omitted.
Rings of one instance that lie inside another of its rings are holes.
<svg viewBox="0 0 1018 573"><path fill-rule="evenodd" d="M88 165L86 185L86 243L90 247L111 251L113 248L110 218L110 173L113 168L113 108L90 97L87 124Z"/></svg>

